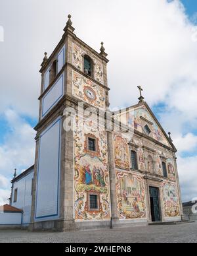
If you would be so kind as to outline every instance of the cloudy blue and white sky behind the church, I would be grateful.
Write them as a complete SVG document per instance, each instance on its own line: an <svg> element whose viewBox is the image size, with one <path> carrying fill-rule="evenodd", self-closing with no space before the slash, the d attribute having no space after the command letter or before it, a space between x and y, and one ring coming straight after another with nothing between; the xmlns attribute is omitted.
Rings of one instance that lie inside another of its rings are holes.
<svg viewBox="0 0 197 256"><path fill-rule="evenodd" d="M0 205L32 166L43 53L75 33L108 53L111 107L138 102L138 85L178 149L183 201L197 197L197 1L0 0Z"/></svg>

